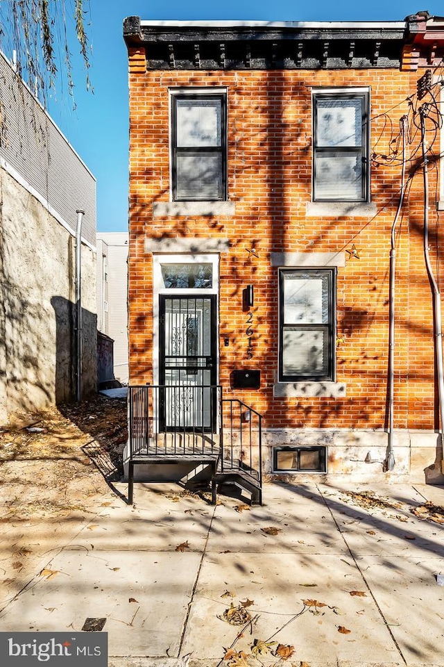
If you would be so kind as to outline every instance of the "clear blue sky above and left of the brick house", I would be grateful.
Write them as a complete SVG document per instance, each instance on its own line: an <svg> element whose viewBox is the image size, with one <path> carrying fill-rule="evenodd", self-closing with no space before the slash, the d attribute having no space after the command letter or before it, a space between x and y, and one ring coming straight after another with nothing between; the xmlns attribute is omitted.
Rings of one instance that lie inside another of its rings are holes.
<svg viewBox="0 0 444 667"><path fill-rule="evenodd" d="M443 16L443 0L225 0L214 2L169 0L90 0L92 43L91 79L94 94L85 90L80 58L74 53L76 110L59 90L49 110L71 145L97 179L98 231L128 229L128 63L122 38L123 18L243 19L257 21L402 21L409 14L428 10Z"/></svg>

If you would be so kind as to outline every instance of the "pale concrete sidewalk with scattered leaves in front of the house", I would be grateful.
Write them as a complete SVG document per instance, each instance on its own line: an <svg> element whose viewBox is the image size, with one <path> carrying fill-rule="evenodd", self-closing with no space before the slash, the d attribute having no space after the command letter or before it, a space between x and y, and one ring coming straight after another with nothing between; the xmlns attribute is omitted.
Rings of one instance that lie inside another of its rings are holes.
<svg viewBox="0 0 444 667"><path fill-rule="evenodd" d="M262 507L174 484L124 495L71 529L22 527L46 557L2 591L1 632L103 618L110 667L444 666L444 525L411 513L444 488L267 484Z"/></svg>

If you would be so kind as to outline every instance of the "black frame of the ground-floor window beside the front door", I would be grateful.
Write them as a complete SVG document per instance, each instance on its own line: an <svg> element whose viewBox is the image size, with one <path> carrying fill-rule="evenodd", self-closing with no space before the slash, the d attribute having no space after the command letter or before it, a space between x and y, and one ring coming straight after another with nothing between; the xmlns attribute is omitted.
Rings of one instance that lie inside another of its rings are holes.
<svg viewBox="0 0 444 667"><path fill-rule="evenodd" d="M312 324L285 324L284 323L284 280L286 274L309 274L313 277L326 275L328 277L328 322ZM335 381L336 379L336 267L297 267L282 268L279 270L279 382L304 381ZM325 374L284 374L283 369L283 338L284 332L290 331L327 331L327 373Z"/></svg>

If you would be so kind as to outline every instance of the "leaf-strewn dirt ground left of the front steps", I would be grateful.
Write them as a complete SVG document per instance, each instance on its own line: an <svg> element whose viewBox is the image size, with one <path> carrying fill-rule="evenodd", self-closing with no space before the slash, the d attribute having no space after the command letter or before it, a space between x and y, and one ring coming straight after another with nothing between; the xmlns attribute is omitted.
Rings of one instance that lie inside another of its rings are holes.
<svg viewBox="0 0 444 667"><path fill-rule="evenodd" d="M0 429L0 520L94 511L122 474L126 401L104 396L13 415Z"/></svg>

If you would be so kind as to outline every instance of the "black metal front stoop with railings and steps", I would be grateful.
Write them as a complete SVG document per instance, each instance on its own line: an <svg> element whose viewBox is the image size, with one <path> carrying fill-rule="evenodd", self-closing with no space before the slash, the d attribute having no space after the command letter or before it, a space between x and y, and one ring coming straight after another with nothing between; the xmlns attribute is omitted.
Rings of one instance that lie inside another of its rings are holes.
<svg viewBox="0 0 444 667"><path fill-rule="evenodd" d="M189 467L189 488L234 484L262 504L262 416L221 386L128 388L128 502L139 465Z"/></svg>

